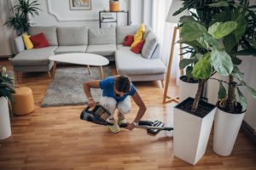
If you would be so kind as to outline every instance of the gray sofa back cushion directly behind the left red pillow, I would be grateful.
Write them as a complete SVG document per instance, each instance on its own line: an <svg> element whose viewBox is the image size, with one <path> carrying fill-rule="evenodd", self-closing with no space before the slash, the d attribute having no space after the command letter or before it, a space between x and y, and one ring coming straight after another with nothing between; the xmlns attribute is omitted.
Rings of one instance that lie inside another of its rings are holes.
<svg viewBox="0 0 256 170"><path fill-rule="evenodd" d="M34 36L43 32L44 36L49 42L49 46L55 46L58 45L56 30L56 26L30 26L28 29L28 34Z"/></svg>

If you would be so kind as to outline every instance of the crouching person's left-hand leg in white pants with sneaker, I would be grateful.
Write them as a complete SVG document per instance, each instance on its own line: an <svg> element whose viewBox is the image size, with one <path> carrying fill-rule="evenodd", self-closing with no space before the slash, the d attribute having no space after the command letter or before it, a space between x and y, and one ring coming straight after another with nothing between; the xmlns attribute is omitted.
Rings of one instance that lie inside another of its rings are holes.
<svg viewBox="0 0 256 170"><path fill-rule="evenodd" d="M103 107L105 107L111 114L111 116L109 116L108 118L109 122L113 123L113 126L109 126L110 131L113 133L118 133L120 131L120 128L116 120L114 120L113 118L113 114L114 114L114 111L116 110L116 105L117 105L116 100L113 98L102 96L100 99L100 104Z"/></svg>

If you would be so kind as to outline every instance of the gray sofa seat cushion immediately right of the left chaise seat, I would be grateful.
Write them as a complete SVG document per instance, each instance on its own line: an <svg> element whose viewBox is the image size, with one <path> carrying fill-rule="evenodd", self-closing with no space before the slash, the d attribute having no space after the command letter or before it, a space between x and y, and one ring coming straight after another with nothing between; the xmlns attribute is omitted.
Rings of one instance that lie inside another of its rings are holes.
<svg viewBox="0 0 256 170"><path fill-rule="evenodd" d="M85 53L86 48L86 45L59 46L55 49L55 54Z"/></svg>

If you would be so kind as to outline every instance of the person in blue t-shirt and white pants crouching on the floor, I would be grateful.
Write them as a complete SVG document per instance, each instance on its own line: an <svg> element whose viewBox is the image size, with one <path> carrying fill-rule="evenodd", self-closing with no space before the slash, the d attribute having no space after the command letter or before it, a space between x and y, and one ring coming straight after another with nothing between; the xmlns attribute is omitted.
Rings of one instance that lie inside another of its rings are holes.
<svg viewBox="0 0 256 170"><path fill-rule="evenodd" d="M112 122L113 126L109 126L109 129L113 133L118 133L120 131L119 125L121 123L127 123L127 128L132 130L141 120L146 111L143 99L138 94L137 89L133 86L129 77L117 75L114 77L107 77L103 80L84 82L83 86L90 107L96 105L96 102L90 94L90 88L102 88L103 93L100 99L100 105L104 106L111 113L109 122ZM125 114L131 111L130 96L139 106L137 116L132 123L126 122L125 119ZM116 109L119 111L118 121L113 118Z"/></svg>

